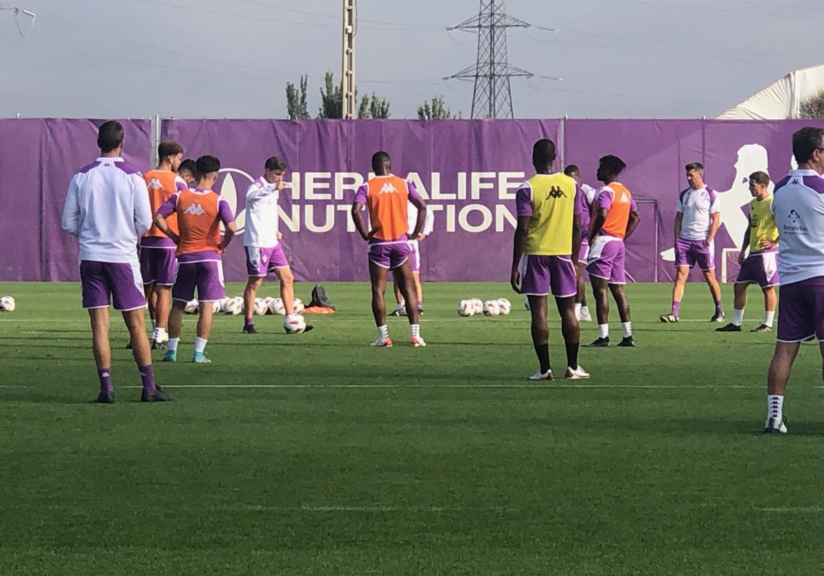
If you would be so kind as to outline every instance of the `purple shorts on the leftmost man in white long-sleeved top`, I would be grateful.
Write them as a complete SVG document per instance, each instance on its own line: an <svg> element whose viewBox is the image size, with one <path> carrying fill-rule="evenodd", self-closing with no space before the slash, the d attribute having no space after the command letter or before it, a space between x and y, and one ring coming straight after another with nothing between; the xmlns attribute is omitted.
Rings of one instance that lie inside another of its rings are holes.
<svg viewBox="0 0 824 576"><path fill-rule="evenodd" d="M125 312L146 306L138 262L80 262L83 308L109 308Z"/></svg>

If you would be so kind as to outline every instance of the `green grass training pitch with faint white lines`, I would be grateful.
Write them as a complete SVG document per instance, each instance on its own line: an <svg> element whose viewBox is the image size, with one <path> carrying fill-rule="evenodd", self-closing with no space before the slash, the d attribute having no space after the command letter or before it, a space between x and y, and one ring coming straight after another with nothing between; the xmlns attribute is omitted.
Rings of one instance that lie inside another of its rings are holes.
<svg viewBox="0 0 824 576"><path fill-rule="evenodd" d="M765 437L775 333L714 332L705 286L677 325L658 323L670 286L628 286L638 348L583 348L592 379L574 385L527 383L528 314L505 284L425 285L425 349L405 318L370 348L368 286L327 290L339 314L302 336L216 318L213 365L156 363L162 405L137 402L113 317L117 403L99 406L77 285L0 283L17 300L0 315L0 574L821 573L817 346L789 434ZM456 315L502 296L507 317ZM182 360L193 340L186 317Z"/></svg>

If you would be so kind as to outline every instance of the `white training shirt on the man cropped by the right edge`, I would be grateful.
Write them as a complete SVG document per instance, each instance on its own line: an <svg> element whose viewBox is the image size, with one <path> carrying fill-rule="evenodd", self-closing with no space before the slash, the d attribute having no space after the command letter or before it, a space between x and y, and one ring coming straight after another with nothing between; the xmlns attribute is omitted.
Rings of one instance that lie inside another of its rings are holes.
<svg viewBox="0 0 824 576"><path fill-rule="evenodd" d="M824 179L815 170L790 170L775 184L781 285L824 276Z"/></svg>

